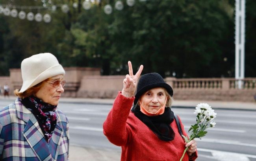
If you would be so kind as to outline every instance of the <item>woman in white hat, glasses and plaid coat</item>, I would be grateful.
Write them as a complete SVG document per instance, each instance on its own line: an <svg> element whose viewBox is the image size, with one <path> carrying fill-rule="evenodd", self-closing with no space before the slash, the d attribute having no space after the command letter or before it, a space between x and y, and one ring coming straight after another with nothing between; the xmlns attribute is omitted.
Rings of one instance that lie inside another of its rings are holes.
<svg viewBox="0 0 256 161"><path fill-rule="evenodd" d="M65 71L51 53L21 63L22 88L13 104L0 110L0 160L69 160L69 125L57 108Z"/></svg>

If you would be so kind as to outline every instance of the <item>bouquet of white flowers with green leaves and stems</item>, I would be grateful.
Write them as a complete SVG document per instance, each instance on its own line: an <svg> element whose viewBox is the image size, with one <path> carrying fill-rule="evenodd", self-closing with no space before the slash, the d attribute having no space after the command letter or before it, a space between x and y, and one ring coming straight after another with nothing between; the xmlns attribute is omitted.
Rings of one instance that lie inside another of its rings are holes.
<svg viewBox="0 0 256 161"><path fill-rule="evenodd" d="M214 110L211 109L211 106L209 106L209 104L207 103L198 104L194 113L197 114L197 119L196 119L197 123L192 125L189 128L189 132L192 130L189 136L189 139L187 139L186 136L182 135L186 143L188 143L189 141L195 138L201 139L200 137L203 137L207 134L206 129L210 127L214 127L216 124L215 122L213 122L213 119L216 117L217 113L215 113ZM182 161L188 148L189 147L186 147L186 149L184 150L180 161Z"/></svg>

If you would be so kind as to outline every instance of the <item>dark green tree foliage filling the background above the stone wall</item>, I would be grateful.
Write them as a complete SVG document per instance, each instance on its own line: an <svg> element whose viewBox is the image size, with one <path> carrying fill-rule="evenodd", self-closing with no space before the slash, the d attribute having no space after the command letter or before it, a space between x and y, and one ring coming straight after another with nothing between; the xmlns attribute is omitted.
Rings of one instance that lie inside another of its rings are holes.
<svg viewBox="0 0 256 161"><path fill-rule="evenodd" d="M0 75L19 68L25 57L51 52L63 66L100 67L103 75L126 74L131 60L134 67L143 64L144 73L162 76L234 77L234 0L136 0L132 7L121 0L122 11L114 8L116 1L101 0L85 10L81 0L62 0L68 13L59 7L41 11L50 13L50 23L0 14ZM103 11L107 2L113 7L110 15ZM0 0L7 3L43 5ZM247 0L246 77L256 76L255 5Z"/></svg>

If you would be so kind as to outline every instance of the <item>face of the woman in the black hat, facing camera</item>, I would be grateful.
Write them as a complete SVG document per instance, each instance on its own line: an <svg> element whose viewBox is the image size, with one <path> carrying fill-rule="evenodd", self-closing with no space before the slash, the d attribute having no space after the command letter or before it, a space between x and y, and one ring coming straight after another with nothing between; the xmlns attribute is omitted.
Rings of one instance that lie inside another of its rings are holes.
<svg viewBox="0 0 256 161"><path fill-rule="evenodd" d="M165 105L166 99L165 88L152 88L146 91L139 101L141 101L142 106L151 113L156 113L162 106Z"/></svg>

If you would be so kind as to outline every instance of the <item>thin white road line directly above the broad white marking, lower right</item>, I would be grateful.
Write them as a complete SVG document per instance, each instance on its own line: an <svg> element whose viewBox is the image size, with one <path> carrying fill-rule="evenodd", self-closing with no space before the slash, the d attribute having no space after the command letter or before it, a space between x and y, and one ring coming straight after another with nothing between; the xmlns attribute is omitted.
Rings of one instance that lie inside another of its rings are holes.
<svg viewBox="0 0 256 161"><path fill-rule="evenodd" d="M256 144L249 144L249 143L241 143L240 141L234 141L234 140L222 140L222 139L195 139L196 141L202 141L202 142L208 142L208 143L220 143L220 144L230 144L230 145L242 145L242 146L251 146L256 147Z"/></svg>

